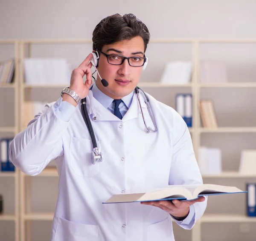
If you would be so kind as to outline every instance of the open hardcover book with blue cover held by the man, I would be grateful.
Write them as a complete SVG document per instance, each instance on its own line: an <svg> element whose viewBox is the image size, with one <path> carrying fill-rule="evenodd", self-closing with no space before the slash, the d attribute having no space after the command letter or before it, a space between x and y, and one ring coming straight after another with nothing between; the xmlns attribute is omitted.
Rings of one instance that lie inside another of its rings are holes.
<svg viewBox="0 0 256 241"><path fill-rule="evenodd" d="M201 185L171 185L166 188L151 189L145 192L135 192L126 194L116 194L103 204L109 203L128 203L128 202L145 202L160 200L194 200L200 196L242 193L235 186L221 186L215 184Z"/></svg>

